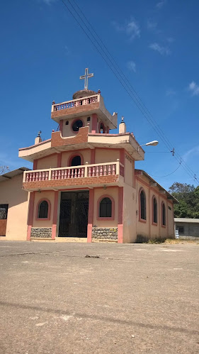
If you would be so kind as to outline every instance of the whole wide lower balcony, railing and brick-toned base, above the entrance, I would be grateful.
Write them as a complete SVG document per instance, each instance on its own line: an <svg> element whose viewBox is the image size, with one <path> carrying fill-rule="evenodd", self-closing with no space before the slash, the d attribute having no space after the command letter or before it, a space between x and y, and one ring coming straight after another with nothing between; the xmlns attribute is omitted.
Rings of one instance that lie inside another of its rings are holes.
<svg viewBox="0 0 199 354"><path fill-rule="evenodd" d="M123 186L124 166L116 162L58 167L45 170L25 171L23 189L30 192L39 190L59 190L74 188L93 188Z"/></svg>

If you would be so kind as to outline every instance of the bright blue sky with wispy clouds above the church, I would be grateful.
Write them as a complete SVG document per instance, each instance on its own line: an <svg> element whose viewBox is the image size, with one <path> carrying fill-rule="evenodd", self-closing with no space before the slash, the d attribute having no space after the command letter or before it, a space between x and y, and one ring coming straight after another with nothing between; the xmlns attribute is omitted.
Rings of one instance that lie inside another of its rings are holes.
<svg viewBox="0 0 199 354"><path fill-rule="evenodd" d="M67 0L65 0L67 3ZM198 0L76 0L172 146L199 178ZM31 167L18 148L38 131L50 138L52 100L84 88L79 76L94 72L89 88L101 89L106 108L125 116L127 131L145 147L145 170L163 187L198 184L179 166L60 0L1 4L0 165ZM115 133L115 131L112 131ZM168 177L161 177L169 175Z"/></svg>

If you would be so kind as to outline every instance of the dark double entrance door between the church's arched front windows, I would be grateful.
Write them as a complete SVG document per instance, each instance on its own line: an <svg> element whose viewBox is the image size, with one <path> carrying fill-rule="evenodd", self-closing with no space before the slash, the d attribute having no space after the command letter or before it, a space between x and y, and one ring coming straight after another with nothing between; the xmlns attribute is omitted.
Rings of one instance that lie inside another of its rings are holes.
<svg viewBox="0 0 199 354"><path fill-rule="evenodd" d="M86 237L89 191L62 192L59 213L60 237Z"/></svg>

